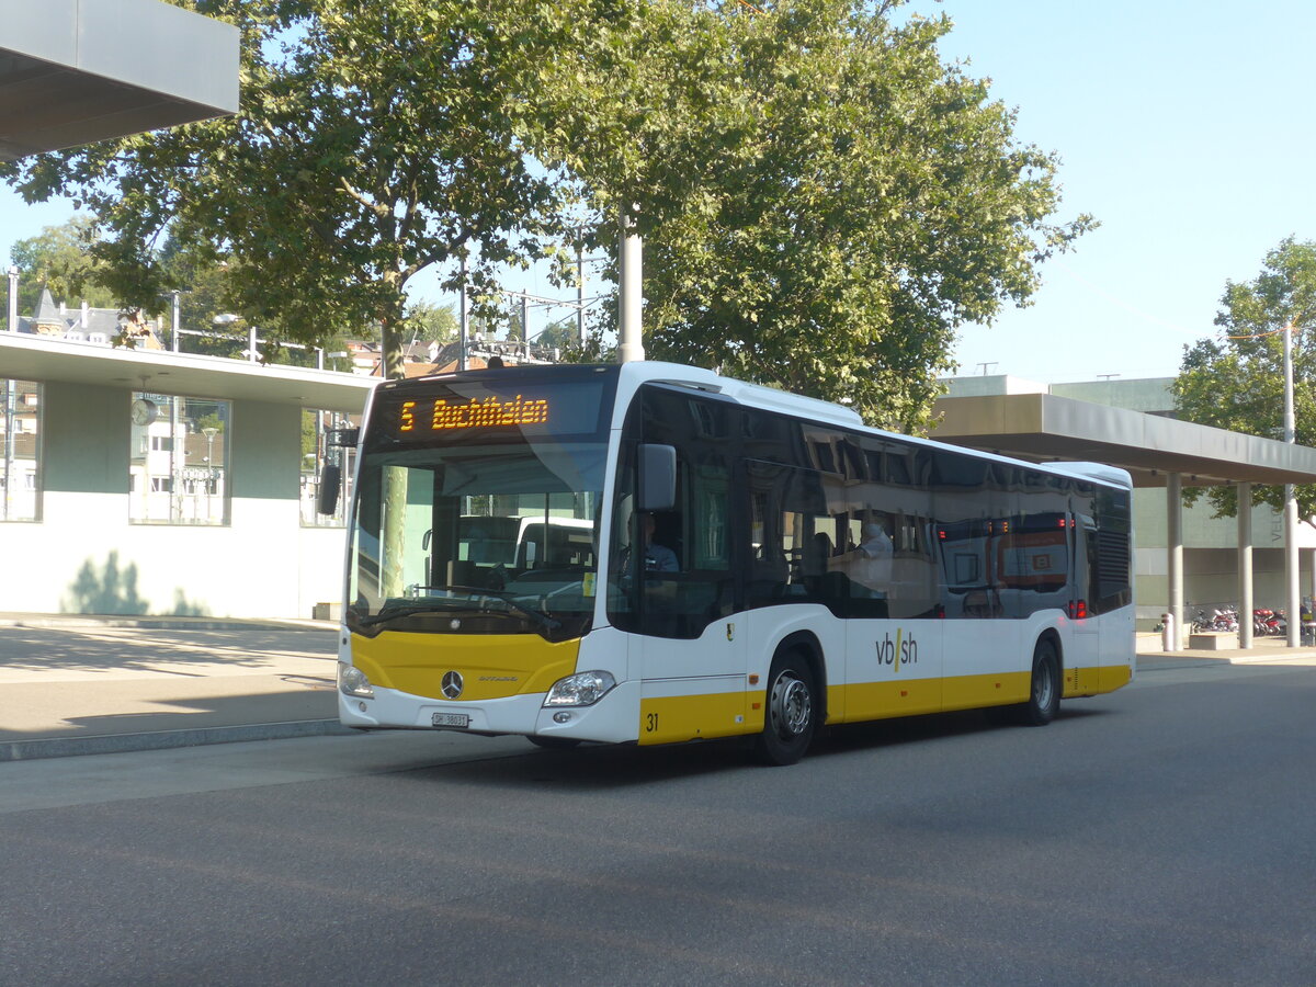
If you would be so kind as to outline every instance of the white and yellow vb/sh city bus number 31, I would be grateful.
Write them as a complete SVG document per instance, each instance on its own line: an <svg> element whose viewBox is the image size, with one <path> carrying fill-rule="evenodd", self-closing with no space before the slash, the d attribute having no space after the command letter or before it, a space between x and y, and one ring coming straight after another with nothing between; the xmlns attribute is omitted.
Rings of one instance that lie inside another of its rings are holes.
<svg viewBox="0 0 1316 987"><path fill-rule="evenodd" d="M745 736L788 765L824 725L1044 725L1134 675L1132 484L1109 466L645 361L383 382L355 443L351 728Z"/></svg>

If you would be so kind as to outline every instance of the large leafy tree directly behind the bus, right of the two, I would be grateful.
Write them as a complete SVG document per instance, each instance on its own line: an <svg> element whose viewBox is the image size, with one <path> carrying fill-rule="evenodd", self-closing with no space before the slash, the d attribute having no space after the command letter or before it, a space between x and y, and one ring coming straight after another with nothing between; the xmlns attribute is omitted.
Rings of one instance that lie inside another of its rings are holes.
<svg viewBox="0 0 1316 987"><path fill-rule="evenodd" d="M940 62L950 22L894 7L654 3L590 47L587 104L580 62L554 63L542 146L600 216L637 207L649 355L916 426L958 329L1024 303L1091 228L1049 221L1055 157Z"/></svg>

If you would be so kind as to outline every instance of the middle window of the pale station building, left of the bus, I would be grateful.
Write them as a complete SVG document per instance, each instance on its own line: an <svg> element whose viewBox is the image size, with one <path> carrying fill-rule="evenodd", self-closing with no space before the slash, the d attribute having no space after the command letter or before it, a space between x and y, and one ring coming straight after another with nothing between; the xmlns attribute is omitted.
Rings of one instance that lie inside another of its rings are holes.
<svg viewBox="0 0 1316 987"><path fill-rule="evenodd" d="M139 524L228 524L233 405L132 395L129 512Z"/></svg>

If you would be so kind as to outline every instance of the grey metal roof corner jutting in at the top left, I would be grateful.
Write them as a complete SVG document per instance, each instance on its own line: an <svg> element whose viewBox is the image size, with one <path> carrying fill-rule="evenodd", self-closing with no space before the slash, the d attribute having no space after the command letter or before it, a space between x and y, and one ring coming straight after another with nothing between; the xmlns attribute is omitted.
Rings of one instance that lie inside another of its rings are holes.
<svg viewBox="0 0 1316 987"><path fill-rule="evenodd" d="M0 159L236 113L238 29L162 0L0 0Z"/></svg>

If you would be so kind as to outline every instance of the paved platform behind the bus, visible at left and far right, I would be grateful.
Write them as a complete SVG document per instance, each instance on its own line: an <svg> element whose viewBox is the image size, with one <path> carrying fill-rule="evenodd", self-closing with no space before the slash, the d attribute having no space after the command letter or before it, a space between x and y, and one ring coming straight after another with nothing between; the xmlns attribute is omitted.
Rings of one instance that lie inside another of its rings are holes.
<svg viewBox="0 0 1316 987"><path fill-rule="evenodd" d="M0 761L349 733L330 621L0 613ZM1162 651L1138 669L1304 661L1282 638Z"/></svg>

